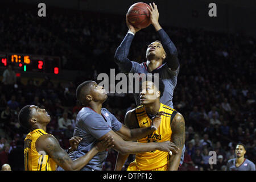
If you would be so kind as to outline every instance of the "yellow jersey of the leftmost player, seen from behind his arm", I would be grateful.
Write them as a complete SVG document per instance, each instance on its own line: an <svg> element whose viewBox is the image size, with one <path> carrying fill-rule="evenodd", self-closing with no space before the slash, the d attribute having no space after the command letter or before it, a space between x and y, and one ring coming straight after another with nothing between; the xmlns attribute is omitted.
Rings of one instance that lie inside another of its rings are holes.
<svg viewBox="0 0 256 182"><path fill-rule="evenodd" d="M36 140L42 135L47 135L44 130L36 129L27 134L24 140L24 166L25 171L55 171L56 163L46 155L46 152L38 152L35 148Z"/></svg>

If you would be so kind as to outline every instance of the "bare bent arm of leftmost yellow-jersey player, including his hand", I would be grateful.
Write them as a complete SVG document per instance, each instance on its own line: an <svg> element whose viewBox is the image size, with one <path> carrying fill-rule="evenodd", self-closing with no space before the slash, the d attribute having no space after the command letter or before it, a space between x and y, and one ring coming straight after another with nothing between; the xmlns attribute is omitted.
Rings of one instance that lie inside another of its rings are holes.
<svg viewBox="0 0 256 182"><path fill-rule="evenodd" d="M36 140L36 150L45 151L54 162L64 170L68 171L77 171L84 167L88 162L102 149L105 147L113 147L113 139L109 136L106 136L101 144L105 145L103 148L99 147L99 144L94 146L92 150L87 152L84 156L76 160L69 158L67 152L60 147L59 142L52 135L42 135Z"/></svg>

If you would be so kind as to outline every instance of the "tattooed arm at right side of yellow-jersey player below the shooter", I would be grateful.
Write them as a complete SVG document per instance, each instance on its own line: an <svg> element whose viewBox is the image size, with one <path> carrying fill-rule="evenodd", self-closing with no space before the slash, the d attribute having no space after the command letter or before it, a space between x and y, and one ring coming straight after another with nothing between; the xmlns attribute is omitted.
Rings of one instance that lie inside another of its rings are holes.
<svg viewBox="0 0 256 182"><path fill-rule="evenodd" d="M177 147L179 147L179 151L177 154L173 154L170 156L169 160L169 171L177 171L180 164L180 158L182 154L182 148L185 143L185 121L183 115L177 113L174 117L174 120L171 123L172 129L172 137L171 142L174 142Z"/></svg>

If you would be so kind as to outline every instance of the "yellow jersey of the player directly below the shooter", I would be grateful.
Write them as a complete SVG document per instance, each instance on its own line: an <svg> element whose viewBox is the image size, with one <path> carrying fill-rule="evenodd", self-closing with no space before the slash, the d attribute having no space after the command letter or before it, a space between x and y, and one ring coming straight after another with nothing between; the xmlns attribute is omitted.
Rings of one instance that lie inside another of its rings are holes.
<svg viewBox="0 0 256 182"><path fill-rule="evenodd" d="M159 111L163 111L162 120L158 130L148 135L145 138L137 140L137 142L164 142L170 141L172 136L171 121L177 111L169 106L160 104ZM139 106L135 109L135 115L138 120L139 127L150 127L151 119L148 117L145 107ZM130 163L127 171L152 171L152 170L167 170L169 161L168 152L154 150L151 152L143 152L135 155L135 161Z"/></svg>

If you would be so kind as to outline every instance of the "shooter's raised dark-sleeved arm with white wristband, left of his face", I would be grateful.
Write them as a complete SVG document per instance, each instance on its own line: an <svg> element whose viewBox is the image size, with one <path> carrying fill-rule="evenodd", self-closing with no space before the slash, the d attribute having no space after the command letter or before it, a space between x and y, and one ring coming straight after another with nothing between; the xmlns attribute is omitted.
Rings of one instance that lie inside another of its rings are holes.
<svg viewBox="0 0 256 182"><path fill-rule="evenodd" d="M118 64L119 69L123 73L129 73L132 67L131 60L127 58L130 51L131 42L133 41L134 35L136 32L138 32L140 29L133 27L129 20L127 19L126 15L126 24L129 28L129 31L127 32L125 38L123 39L120 46L117 48L117 51L115 51L115 63Z"/></svg>

